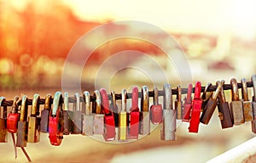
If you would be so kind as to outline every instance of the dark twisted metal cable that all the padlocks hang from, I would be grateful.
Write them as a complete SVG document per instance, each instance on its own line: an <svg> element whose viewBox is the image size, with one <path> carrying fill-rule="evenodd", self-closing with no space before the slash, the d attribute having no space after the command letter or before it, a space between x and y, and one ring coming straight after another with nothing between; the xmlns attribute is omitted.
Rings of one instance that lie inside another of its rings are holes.
<svg viewBox="0 0 256 163"><path fill-rule="evenodd" d="M237 83L237 86L238 86L238 88L241 88L241 82ZM217 87L218 87L217 85L212 85L212 86L208 87L207 92L213 92L213 91L216 90ZM224 90L230 90L231 89L230 84L224 84L223 87L224 87ZM253 82L247 82L247 87L253 87ZM205 87L201 87L201 93L204 92L204 90L205 90ZM194 92L195 92L195 87L193 87L193 93ZM188 93L188 88L182 88L182 94L186 94L186 93ZM175 95L175 94L177 94L177 89L172 89L172 95ZM159 90L158 95L159 96L164 96L163 90ZM148 96L149 97L154 97L154 91L149 91ZM139 98L142 97L141 92L138 93L138 97ZM80 98L81 98L81 100L84 100L83 97L80 97ZM108 99L111 99L111 98L112 98L111 95L108 94ZM131 93L127 93L127 98L128 99L131 98ZM121 93L116 93L115 94L115 99L116 100L121 99ZM95 100L96 100L95 96L90 96L90 101L95 101ZM38 100L38 104L44 104L44 101L45 101L44 98L40 98ZM75 101L76 101L76 99L74 97L69 97L68 98L69 103L75 103ZM5 101L3 101L2 106L12 106L13 102L14 102L13 100L5 100ZM52 104L52 101L50 103ZM21 104L21 101L18 102L18 105L20 105L20 104ZM28 98L26 100L26 104L27 105L32 105L32 98Z"/></svg>

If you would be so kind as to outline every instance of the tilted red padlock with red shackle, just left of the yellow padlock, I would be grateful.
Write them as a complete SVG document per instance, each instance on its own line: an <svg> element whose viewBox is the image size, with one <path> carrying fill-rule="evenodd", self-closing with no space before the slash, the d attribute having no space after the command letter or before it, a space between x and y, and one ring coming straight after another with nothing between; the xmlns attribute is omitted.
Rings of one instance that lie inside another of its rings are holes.
<svg viewBox="0 0 256 163"><path fill-rule="evenodd" d="M103 138L105 141L113 141L115 138L115 124L113 112L109 109L108 93L105 88L100 89L102 97L102 112L104 114L105 130Z"/></svg>

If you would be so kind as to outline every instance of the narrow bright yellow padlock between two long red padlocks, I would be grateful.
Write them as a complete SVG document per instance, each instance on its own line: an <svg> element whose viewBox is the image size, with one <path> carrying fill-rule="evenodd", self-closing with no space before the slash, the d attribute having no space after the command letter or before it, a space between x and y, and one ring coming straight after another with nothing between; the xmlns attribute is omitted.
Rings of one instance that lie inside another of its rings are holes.
<svg viewBox="0 0 256 163"><path fill-rule="evenodd" d="M126 141L127 140L127 114L126 114L127 92L125 89L122 89L121 97L122 97L122 99L121 99L121 110L119 112L118 140Z"/></svg>

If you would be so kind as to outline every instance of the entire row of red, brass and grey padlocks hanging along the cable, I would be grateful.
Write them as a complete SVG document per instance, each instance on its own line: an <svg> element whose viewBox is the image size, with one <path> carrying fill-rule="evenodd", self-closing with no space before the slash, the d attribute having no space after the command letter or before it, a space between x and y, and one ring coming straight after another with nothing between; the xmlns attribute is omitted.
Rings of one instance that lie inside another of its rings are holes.
<svg viewBox="0 0 256 163"><path fill-rule="evenodd" d="M216 83L214 92L209 91L207 84L201 93L201 82L195 83L195 88L189 84L187 95L182 100L182 88L177 86L177 98L173 105L172 87L166 83L163 87L163 102L159 103L159 91L154 87L154 103L149 107L148 87L143 86L141 97L137 87L131 93L131 108L127 108L127 92L121 92L121 107L117 107L116 94L108 95L106 89L94 91L93 96L85 91L81 97L74 96L74 110L69 110L70 97L68 93L56 92L54 98L50 94L44 98L44 110L40 112L40 96L35 94L32 99L31 113L28 113L28 97L15 96L11 110L7 110L5 98L0 98L0 142L7 142L7 132L17 133L16 147L26 147L26 143L37 143L40 132L49 133L49 142L58 146L63 135L102 134L105 141L137 139L139 135L150 133L150 124L162 123L160 138L162 140L176 139L176 120L189 122L189 132L198 132L200 122L208 124L213 111L218 106L219 120L222 128L241 125L245 121L252 121L252 132L256 133L256 75L252 76L253 101L247 93L247 81L241 79L241 95L236 79L230 80L232 100L230 104L224 95L224 80ZM194 98L192 93L194 92ZM110 98L111 97L111 98ZM141 107L138 99L141 98ZM110 103L109 103L110 101ZM84 106L84 110L82 110ZM40 114L41 113L41 114ZM116 128L118 132L116 133Z"/></svg>

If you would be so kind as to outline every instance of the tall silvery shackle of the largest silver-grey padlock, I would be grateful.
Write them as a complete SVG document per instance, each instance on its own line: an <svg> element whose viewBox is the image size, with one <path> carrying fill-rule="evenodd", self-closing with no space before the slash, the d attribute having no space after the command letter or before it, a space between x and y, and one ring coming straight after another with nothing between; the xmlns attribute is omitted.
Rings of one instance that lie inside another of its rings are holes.
<svg viewBox="0 0 256 163"><path fill-rule="evenodd" d="M172 87L169 83L164 85L164 110L172 110Z"/></svg>

